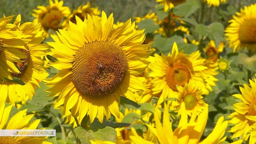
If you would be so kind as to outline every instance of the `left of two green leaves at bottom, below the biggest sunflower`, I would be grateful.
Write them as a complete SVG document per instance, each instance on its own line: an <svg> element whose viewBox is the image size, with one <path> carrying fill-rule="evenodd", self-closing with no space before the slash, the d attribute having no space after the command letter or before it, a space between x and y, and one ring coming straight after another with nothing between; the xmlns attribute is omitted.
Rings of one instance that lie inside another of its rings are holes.
<svg viewBox="0 0 256 144"><path fill-rule="evenodd" d="M87 130L85 130L82 127L75 128L74 133L78 137L78 139L81 141L81 144L91 144L90 139L95 140L94 135L87 132Z"/></svg>

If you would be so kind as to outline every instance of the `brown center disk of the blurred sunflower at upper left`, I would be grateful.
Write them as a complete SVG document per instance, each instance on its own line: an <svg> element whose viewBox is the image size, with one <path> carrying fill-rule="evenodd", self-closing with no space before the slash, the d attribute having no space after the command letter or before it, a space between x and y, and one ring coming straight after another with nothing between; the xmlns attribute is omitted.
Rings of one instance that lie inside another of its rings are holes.
<svg viewBox="0 0 256 144"><path fill-rule="evenodd" d="M59 23L62 20L63 15L59 10L52 9L49 13L46 13L42 20L42 26L45 30L53 29L55 31L59 28Z"/></svg>

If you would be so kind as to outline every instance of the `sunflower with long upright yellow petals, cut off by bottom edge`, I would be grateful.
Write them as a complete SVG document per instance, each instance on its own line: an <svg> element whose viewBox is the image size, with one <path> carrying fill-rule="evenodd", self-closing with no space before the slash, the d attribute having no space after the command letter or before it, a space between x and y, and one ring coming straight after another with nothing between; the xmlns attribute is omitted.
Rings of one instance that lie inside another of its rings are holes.
<svg viewBox="0 0 256 144"><path fill-rule="evenodd" d="M155 126L151 124L147 125L151 132L157 137L159 144L216 144L224 142L226 137L222 137L228 126L228 121L224 121L224 117L218 119L210 135L200 142L208 119L208 107L203 108L203 111L199 115L197 114L197 110L194 109L189 122L187 122L187 113L184 103L182 103L181 109L181 118L178 127L174 130L172 121L169 119L167 104L165 104L164 107L163 124L160 122L160 117L155 115ZM155 111L160 110L155 109Z"/></svg>

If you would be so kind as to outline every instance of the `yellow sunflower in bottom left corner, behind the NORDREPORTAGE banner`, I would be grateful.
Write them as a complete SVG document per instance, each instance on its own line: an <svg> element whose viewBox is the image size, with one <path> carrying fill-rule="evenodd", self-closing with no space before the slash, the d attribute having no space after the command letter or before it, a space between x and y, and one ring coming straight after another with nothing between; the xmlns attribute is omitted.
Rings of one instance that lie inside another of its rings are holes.
<svg viewBox="0 0 256 144"><path fill-rule="evenodd" d="M37 129L40 119L31 121L34 114L26 115L27 109L17 112L13 117L9 118L12 105L5 108L5 103L0 102L0 130L35 130ZM8 121L8 123L7 123ZM44 141L47 137L32 137L32 136L0 136L1 144L51 144Z"/></svg>

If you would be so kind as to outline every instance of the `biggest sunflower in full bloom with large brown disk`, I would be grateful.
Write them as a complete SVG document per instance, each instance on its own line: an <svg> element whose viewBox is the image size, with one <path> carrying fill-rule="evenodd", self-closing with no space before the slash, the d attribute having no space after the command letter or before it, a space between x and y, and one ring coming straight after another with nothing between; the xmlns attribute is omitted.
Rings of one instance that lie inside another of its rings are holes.
<svg viewBox="0 0 256 144"><path fill-rule="evenodd" d="M50 66L60 72L46 80L52 92L58 96L54 106L64 106L63 113L71 111L81 123L88 115L90 121L119 117L120 95L135 101L133 92L146 88L136 75L144 72L153 50L142 45L144 30L134 31L131 19L113 29L114 18L107 18L104 11L101 20L87 16L84 22L76 17L77 24L69 23L70 31L59 30L52 35L55 42L48 42L51 56L58 59Z"/></svg>

